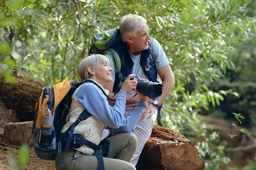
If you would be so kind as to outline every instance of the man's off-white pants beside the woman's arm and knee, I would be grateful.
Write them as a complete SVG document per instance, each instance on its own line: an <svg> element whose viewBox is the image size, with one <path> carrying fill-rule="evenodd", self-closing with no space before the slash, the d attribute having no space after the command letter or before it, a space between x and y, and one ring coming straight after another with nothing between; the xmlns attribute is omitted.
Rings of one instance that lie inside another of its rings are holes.
<svg viewBox="0 0 256 170"><path fill-rule="evenodd" d="M133 109L134 108L126 107L124 117L126 118L127 116L129 116L129 114L131 114ZM130 163L132 163L134 166L136 166L139 160L141 151L143 150L144 145L148 141L151 135L152 129L154 128L154 122L157 117L157 110L151 116L151 118L148 118L149 114L150 113L148 113L148 115L146 115L142 120L140 119L136 125L136 128L133 130L133 134L135 134L138 138L137 149L135 150L133 157L131 158L131 161L130 161Z"/></svg>

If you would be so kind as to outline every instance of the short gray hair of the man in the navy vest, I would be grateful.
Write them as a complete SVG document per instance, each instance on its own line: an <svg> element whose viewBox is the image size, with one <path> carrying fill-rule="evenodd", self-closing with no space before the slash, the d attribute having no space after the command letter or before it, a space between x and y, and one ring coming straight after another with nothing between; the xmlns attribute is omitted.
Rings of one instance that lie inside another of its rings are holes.
<svg viewBox="0 0 256 170"><path fill-rule="evenodd" d="M127 42L126 35L135 37L137 32L145 26L147 26L147 20L142 16L135 14L123 16L119 25L122 41Z"/></svg>

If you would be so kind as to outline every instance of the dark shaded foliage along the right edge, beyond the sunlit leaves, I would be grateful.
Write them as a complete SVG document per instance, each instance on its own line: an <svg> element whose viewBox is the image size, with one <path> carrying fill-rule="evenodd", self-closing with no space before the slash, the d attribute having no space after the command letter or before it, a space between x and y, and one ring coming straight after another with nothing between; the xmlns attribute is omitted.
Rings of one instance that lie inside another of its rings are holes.
<svg viewBox="0 0 256 170"><path fill-rule="evenodd" d="M246 8L246 16L254 17L256 1L251 1ZM251 30L255 33L255 27ZM255 64L256 37L251 37L251 41L236 45L236 53L231 54L232 61L236 66L234 69L227 69L225 77L212 83L211 90L227 90L232 88L236 92L236 97L233 95L224 96L224 101L220 102L220 107L210 109L211 116L230 118L233 117L232 112L240 112L245 117L242 120L243 124L250 126L252 131L256 129L256 103L255 103Z"/></svg>

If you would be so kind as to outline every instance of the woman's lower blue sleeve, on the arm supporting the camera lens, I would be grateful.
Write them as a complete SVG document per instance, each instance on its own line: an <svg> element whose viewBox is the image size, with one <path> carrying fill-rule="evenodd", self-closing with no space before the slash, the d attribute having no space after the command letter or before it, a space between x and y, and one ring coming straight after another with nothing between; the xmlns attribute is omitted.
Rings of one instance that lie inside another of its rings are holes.
<svg viewBox="0 0 256 170"><path fill-rule="evenodd" d="M112 130L115 132L131 132L133 129L135 129L136 124L141 118L143 110L146 109L147 106L147 103L139 101L133 112L127 118L123 118L120 127Z"/></svg>

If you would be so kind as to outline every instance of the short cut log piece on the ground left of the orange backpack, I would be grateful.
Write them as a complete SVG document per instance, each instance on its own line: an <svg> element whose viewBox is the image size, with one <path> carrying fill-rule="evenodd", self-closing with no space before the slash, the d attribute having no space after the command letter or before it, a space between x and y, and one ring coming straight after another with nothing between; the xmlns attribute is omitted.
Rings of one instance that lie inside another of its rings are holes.
<svg viewBox="0 0 256 170"><path fill-rule="evenodd" d="M33 121L5 124L4 141L11 145L19 146L22 143L27 143L29 146L33 146L34 137L29 129L29 126L32 127L32 124Z"/></svg>

